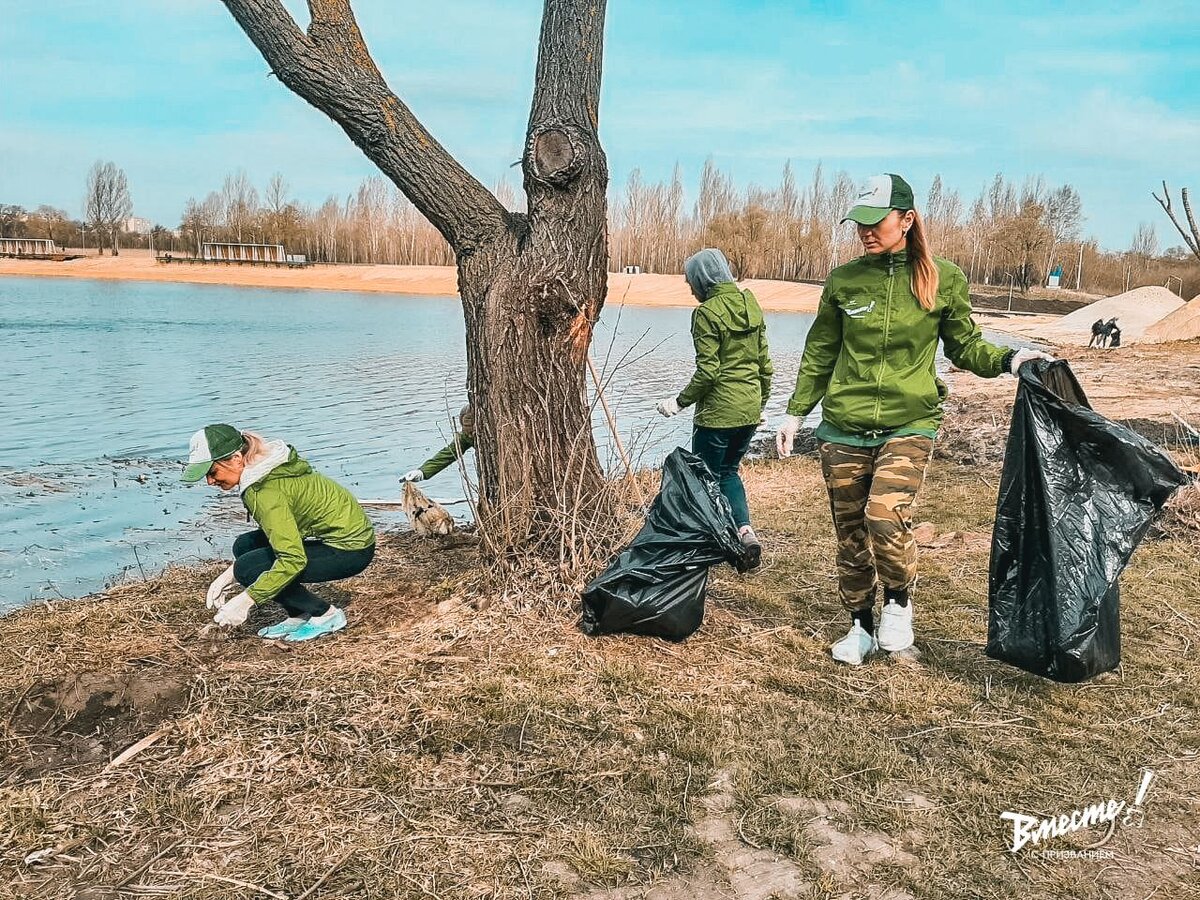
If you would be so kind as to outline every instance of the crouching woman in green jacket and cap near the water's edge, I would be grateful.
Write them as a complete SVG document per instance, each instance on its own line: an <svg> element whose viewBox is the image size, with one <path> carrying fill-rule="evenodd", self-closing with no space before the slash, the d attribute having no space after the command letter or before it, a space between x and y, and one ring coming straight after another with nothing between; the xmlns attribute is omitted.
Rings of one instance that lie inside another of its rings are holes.
<svg viewBox="0 0 1200 900"><path fill-rule="evenodd" d="M240 625L251 607L274 600L288 617L259 637L311 641L346 628L346 613L305 584L349 578L374 557L374 528L350 492L313 472L295 448L232 425L192 436L184 481L202 479L222 491L238 488L258 523L233 542L233 565L209 587L212 620ZM226 601L234 582L245 590Z"/></svg>

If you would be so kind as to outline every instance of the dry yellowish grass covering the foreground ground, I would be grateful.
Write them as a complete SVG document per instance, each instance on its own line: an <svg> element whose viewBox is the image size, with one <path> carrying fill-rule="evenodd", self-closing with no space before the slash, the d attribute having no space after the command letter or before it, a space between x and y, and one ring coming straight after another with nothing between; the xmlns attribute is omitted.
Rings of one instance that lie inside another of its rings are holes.
<svg viewBox="0 0 1200 900"><path fill-rule="evenodd" d="M845 614L816 463L756 463L748 484L764 568L722 570L683 644L592 640L559 608L502 601L461 535L385 539L338 590L352 628L314 646L198 638L215 566L0 619L0 895L540 900L661 882L712 863L689 823L716 773L739 839L794 859L804 896L1195 894L1194 545L1135 557L1120 673L1066 686L988 660L978 547L925 553L918 662L848 670L826 650ZM994 503L994 472L938 462L919 517L988 530ZM1146 823L1116 830L1114 859L1006 852L1001 811L1127 799L1141 767L1158 773ZM836 828L917 862L846 882L781 796L845 804Z"/></svg>

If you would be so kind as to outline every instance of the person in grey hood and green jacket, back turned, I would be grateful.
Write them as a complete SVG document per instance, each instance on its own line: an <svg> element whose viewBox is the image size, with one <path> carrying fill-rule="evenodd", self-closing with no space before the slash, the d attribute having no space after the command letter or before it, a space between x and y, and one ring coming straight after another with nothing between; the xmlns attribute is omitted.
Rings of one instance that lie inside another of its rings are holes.
<svg viewBox="0 0 1200 900"><path fill-rule="evenodd" d="M719 250L702 250L684 263L684 277L700 306L691 314L696 373L678 396L659 401L665 416L696 406L691 451L708 466L733 510L750 568L762 545L750 527L746 491L738 474L770 396L774 370L767 353L767 324L758 301L733 282Z"/></svg>

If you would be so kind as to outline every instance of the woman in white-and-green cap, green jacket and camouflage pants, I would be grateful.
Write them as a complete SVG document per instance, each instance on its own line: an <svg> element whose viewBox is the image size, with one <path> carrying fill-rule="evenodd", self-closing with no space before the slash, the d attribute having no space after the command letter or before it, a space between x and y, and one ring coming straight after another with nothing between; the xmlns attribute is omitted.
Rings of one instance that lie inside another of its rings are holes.
<svg viewBox="0 0 1200 900"><path fill-rule="evenodd" d="M959 368L984 378L1049 356L984 340L971 318L962 270L935 257L899 175L871 178L846 218L864 256L829 274L776 437L792 451L800 422L822 403L816 437L838 533L838 593L851 629L830 648L851 665L912 646L917 544L911 511L942 421L941 340ZM883 610L875 630L875 596Z"/></svg>

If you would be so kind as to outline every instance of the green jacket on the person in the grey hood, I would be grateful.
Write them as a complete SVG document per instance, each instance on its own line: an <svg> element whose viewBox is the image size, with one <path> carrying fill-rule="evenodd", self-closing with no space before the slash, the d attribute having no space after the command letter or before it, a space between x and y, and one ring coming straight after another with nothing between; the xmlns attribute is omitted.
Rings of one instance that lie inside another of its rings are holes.
<svg viewBox="0 0 1200 900"><path fill-rule="evenodd" d="M679 408L695 403L692 421L703 428L757 425L775 370L755 295L733 282L714 284L691 314L691 340L696 373L676 397Z"/></svg>

